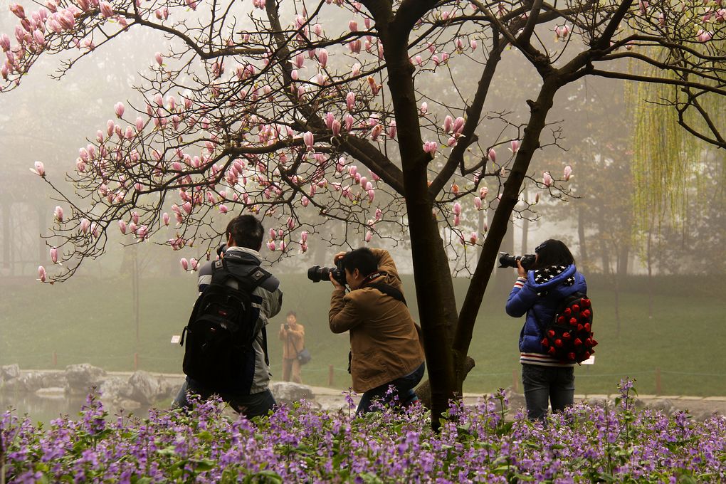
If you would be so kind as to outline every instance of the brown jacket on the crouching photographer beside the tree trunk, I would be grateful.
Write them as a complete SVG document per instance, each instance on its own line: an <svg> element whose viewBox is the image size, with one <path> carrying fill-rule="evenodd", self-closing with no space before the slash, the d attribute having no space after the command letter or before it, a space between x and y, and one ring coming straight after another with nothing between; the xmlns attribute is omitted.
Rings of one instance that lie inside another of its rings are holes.
<svg viewBox="0 0 726 484"><path fill-rule="evenodd" d="M401 279L391 255L372 249L385 282L402 292ZM353 390L364 392L403 377L423 363L423 349L407 306L372 287L347 295L333 290L330 300L330 330L348 331L351 340Z"/></svg>

